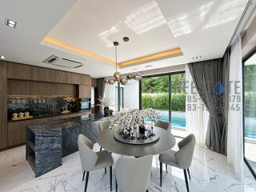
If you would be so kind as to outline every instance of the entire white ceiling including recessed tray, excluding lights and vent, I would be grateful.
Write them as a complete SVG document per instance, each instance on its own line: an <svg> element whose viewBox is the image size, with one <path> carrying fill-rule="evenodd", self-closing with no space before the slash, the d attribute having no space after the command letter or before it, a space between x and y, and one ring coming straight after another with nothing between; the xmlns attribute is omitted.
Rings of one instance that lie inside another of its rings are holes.
<svg viewBox="0 0 256 192"><path fill-rule="evenodd" d="M222 57L242 11L245 0L4 0L0 6L0 55L6 60L35 66L51 54L85 65L76 70L99 78L113 74L114 65L56 46L42 45L46 36L114 60L110 42L130 37L127 51L118 47L118 62L180 47L183 56L121 69L122 72ZM18 22L16 29L5 19ZM127 54L126 54L127 53ZM149 66L146 68L145 66Z"/></svg>

